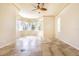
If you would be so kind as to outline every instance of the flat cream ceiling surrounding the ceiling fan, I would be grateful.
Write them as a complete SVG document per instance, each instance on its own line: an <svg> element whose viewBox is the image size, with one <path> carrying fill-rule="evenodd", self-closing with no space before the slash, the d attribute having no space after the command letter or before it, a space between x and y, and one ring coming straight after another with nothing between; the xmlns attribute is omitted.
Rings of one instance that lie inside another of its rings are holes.
<svg viewBox="0 0 79 59"><path fill-rule="evenodd" d="M20 9L33 10L33 3L16 3L15 5ZM68 4L67 3L45 3L47 11L42 12L45 16L56 16L59 14Z"/></svg>

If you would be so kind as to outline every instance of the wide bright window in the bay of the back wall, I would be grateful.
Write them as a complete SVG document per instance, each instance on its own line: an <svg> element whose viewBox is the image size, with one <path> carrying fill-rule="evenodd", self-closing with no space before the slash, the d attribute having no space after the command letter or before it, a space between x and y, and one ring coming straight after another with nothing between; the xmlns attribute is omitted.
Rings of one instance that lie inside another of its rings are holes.
<svg viewBox="0 0 79 59"><path fill-rule="evenodd" d="M41 29L41 21L33 21L33 22L24 22L17 20L16 21L16 31L24 31L24 30L40 30Z"/></svg>

